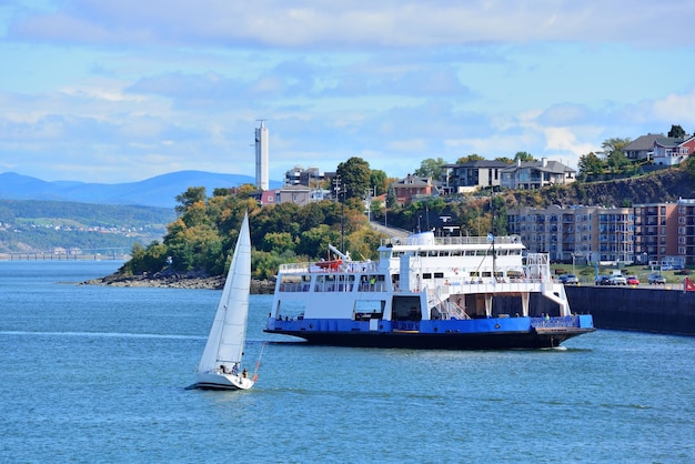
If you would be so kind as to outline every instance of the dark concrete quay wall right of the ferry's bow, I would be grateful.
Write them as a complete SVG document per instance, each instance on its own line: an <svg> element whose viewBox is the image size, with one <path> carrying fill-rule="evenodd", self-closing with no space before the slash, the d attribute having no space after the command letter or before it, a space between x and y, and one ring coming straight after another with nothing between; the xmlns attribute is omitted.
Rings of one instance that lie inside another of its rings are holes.
<svg viewBox="0 0 695 464"><path fill-rule="evenodd" d="M573 313L597 329L695 335L695 292L565 285Z"/></svg>

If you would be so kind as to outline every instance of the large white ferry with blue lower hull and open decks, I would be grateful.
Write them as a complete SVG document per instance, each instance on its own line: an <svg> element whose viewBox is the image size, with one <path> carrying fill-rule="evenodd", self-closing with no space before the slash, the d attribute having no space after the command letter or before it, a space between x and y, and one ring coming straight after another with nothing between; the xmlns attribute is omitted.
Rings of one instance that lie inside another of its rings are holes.
<svg viewBox="0 0 695 464"><path fill-rule="evenodd" d="M385 239L379 260L280 266L264 332L311 344L444 350L555 347L593 332L546 253L518 236Z"/></svg>

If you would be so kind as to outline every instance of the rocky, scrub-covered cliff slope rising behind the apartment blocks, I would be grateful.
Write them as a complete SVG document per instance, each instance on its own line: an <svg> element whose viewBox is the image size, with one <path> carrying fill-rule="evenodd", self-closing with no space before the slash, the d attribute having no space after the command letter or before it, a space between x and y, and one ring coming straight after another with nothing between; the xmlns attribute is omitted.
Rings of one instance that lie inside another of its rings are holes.
<svg viewBox="0 0 695 464"><path fill-rule="evenodd" d="M684 170L667 169L633 179L556 185L544 189L541 198L521 192L516 200L528 206L631 206L638 203L675 202L678 198L695 199L695 179ZM542 204L537 204L538 200Z"/></svg>

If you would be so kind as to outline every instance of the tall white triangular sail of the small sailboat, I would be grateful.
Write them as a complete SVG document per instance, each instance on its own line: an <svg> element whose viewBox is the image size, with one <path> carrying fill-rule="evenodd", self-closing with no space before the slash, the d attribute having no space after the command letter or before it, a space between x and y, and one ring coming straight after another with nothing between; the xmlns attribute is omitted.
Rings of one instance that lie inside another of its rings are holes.
<svg viewBox="0 0 695 464"><path fill-rule="evenodd" d="M241 364L249 315L251 288L251 238L249 215L244 214L222 297L214 315L198 372L211 372L225 365Z"/></svg>

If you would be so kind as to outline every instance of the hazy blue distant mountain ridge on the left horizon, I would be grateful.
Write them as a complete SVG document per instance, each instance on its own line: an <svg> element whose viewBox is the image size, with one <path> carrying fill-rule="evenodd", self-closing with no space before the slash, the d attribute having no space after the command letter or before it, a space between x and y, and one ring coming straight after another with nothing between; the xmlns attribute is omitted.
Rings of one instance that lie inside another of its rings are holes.
<svg viewBox="0 0 695 464"><path fill-rule="evenodd" d="M175 196L190 186L204 186L208 195L218 188L255 183L255 179L240 174L219 174L203 171L178 171L128 183L85 183L75 181L47 182L14 172L0 174L0 199L50 200L97 204L128 204L173 208ZM271 188L280 186L271 182Z"/></svg>

